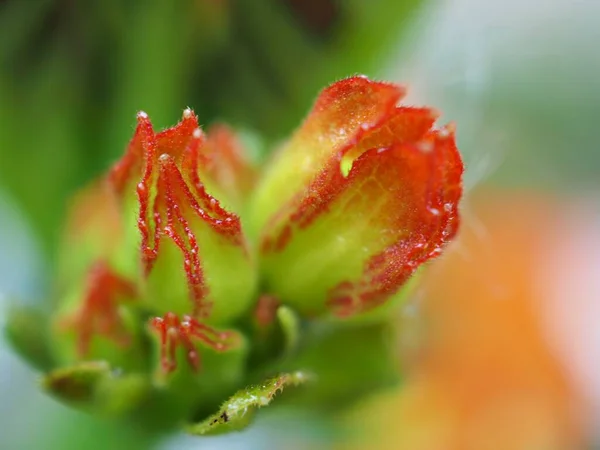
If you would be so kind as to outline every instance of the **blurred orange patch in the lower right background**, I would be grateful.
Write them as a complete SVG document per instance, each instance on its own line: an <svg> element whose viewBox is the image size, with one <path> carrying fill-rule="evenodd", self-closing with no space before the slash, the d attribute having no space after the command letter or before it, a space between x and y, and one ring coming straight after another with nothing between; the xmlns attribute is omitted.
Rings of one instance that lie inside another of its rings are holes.
<svg viewBox="0 0 600 450"><path fill-rule="evenodd" d="M584 447L584 403L548 339L545 311L558 280L542 269L557 256L553 243L575 231L555 232L564 213L535 195L471 199L457 242L427 273L405 383L352 412L362 440L344 448Z"/></svg>

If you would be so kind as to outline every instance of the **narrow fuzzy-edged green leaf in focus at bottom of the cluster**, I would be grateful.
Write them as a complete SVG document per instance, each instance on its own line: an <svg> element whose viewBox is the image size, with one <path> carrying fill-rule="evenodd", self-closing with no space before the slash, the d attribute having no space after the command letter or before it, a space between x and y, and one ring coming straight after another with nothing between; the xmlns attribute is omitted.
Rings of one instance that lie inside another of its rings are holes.
<svg viewBox="0 0 600 450"><path fill-rule="evenodd" d="M187 431L195 435L239 431L252 421L256 409L271 403L278 391L285 386L302 384L308 378L309 376L304 372L285 373L260 385L238 391L223 404L219 411L200 423L188 426Z"/></svg>

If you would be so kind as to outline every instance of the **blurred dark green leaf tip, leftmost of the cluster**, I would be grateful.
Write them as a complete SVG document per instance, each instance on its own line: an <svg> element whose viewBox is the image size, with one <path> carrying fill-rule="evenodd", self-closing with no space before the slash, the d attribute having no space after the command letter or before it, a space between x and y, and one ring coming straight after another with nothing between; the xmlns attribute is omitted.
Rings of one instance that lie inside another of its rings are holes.
<svg viewBox="0 0 600 450"><path fill-rule="evenodd" d="M46 318L34 308L13 305L6 317L4 333L13 348L34 368L52 368L53 358L48 348Z"/></svg>

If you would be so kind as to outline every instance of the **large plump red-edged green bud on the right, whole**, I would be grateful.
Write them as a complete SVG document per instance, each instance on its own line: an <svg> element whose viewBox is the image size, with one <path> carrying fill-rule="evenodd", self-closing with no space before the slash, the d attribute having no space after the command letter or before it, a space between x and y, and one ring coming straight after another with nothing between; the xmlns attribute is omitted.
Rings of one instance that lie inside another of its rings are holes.
<svg viewBox="0 0 600 450"><path fill-rule="evenodd" d="M307 315L386 302L457 231L462 162L436 112L363 77L325 89L255 198L269 292Z"/></svg>

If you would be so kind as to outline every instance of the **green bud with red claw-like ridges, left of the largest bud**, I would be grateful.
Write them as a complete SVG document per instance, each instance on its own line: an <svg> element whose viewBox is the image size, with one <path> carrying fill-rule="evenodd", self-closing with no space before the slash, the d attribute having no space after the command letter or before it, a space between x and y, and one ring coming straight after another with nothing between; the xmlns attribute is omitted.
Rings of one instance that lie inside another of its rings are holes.
<svg viewBox="0 0 600 450"><path fill-rule="evenodd" d="M189 109L179 124L160 133L139 113L134 138L111 180L125 208L137 193L144 306L158 315L224 323L249 306L255 275L239 217L202 181L205 141Z"/></svg>

